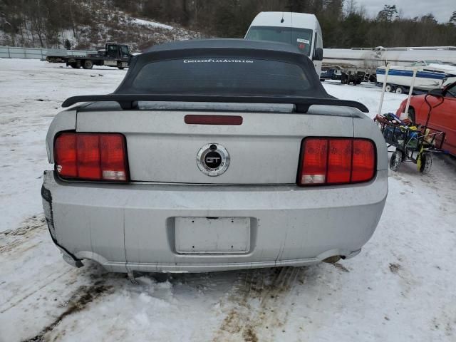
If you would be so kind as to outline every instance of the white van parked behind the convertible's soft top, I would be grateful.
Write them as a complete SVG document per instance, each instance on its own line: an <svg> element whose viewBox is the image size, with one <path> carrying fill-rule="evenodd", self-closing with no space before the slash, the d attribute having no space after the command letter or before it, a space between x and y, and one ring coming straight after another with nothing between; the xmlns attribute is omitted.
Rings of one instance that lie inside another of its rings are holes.
<svg viewBox="0 0 456 342"><path fill-rule="evenodd" d="M321 73L323 37L314 14L294 12L260 12L250 24L246 39L291 43L314 62L317 75Z"/></svg>

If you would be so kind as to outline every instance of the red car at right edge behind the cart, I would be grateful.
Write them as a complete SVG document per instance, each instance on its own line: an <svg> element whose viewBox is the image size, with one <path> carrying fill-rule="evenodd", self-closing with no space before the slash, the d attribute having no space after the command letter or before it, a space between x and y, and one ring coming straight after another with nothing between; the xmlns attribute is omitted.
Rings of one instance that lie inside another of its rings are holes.
<svg viewBox="0 0 456 342"><path fill-rule="evenodd" d="M435 90L433 90L435 91ZM445 141L442 149L456 156L456 82L451 83L441 90L444 97L442 105L432 109L428 126L435 130L445 132ZM441 99L429 96L427 100L432 105L440 103ZM400 103L396 115L405 111L407 99ZM425 103L425 95L412 96L408 116L414 123L425 124L429 107Z"/></svg>

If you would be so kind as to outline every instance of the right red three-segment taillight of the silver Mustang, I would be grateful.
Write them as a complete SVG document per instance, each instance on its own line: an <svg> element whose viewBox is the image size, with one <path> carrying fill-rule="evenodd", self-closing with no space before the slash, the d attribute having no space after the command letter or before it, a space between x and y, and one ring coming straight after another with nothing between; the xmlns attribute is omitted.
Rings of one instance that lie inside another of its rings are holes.
<svg viewBox="0 0 456 342"><path fill-rule="evenodd" d="M358 138L306 138L298 185L367 182L375 175L375 146Z"/></svg>

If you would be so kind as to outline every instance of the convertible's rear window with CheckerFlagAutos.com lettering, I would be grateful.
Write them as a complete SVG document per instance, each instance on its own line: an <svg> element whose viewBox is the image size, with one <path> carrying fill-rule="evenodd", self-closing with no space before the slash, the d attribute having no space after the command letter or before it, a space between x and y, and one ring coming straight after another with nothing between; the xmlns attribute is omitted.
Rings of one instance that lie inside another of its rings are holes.
<svg viewBox="0 0 456 342"><path fill-rule="evenodd" d="M294 63L208 57L148 63L132 86L140 93L291 96L305 95L311 84Z"/></svg>

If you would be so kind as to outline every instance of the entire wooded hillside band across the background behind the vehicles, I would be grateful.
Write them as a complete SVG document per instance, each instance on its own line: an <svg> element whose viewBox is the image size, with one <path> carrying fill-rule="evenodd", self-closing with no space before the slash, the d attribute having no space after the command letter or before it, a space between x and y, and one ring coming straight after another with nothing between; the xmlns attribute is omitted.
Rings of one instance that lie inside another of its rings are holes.
<svg viewBox="0 0 456 342"><path fill-rule="evenodd" d="M439 23L431 13L408 18L406 9L385 4L369 17L354 0L0 0L0 45L93 48L111 40L142 49L175 39L243 37L259 11L316 14L325 47L456 46L456 11Z"/></svg>

